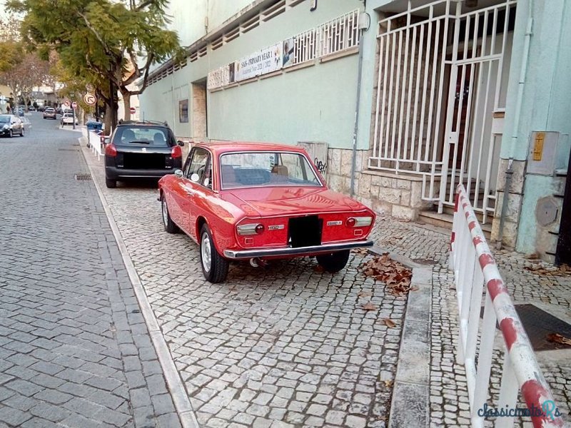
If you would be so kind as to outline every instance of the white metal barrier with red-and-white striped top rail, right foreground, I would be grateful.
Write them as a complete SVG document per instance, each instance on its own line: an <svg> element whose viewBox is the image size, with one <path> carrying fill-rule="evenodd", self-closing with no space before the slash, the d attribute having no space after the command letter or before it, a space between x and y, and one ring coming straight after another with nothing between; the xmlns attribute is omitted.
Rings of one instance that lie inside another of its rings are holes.
<svg viewBox="0 0 571 428"><path fill-rule="evenodd" d="M537 364L530 340L515 312L463 185L457 188L450 250L460 315L458 362L466 370L472 426L483 427L486 417L503 409L507 416L496 417L495 427L512 427L514 417L521 413L510 414L509 411L515 409L517 393L521 390L535 428L563 427L549 385ZM484 284L484 318L480 323ZM496 404L491 404L486 401L496 322L505 342L505 355L500 397Z"/></svg>

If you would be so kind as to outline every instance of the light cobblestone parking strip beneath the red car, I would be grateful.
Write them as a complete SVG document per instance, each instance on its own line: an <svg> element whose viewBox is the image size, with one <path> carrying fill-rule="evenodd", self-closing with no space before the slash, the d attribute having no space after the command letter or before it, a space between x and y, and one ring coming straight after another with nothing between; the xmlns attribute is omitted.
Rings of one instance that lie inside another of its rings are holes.
<svg viewBox="0 0 571 428"><path fill-rule="evenodd" d="M395 376L406 299L362 274L367 256L352 253L336 275L308 259L236 264L211 284L198 246L163 231L156 183L103 195L201 427L385 427L392 386L381 378Z"/></svg>

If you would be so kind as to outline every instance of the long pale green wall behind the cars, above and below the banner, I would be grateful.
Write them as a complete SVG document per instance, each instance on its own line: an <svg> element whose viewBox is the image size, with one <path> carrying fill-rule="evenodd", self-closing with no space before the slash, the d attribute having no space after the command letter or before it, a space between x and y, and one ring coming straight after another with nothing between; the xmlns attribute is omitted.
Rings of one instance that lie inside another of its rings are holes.
<svg viewBox="0 0 571 428"><path fill-rule="evenodd" d="M250 4L249 1L246 3ZM212 0L211 4L214 4ZM167 120L173 124L177 136L192 136L191 121L178 123L177 87L206 78L208 71L315 28L360 8L363 3L359 0L320 1L313 12L309 10L310 4L310 1L304 1L216 51L209 48L203 58L149 86L140 97L141 111L148 119ZM211 9L213 13L218 10L229 13L222 4L216 7L222 9ZM242 7L243 4L237 9ZM212 25L213 21L210 22ZM350 148L357 68L358 55L353 54L208 93L208 138L285 143L325 141L330 147ZM174 92L172 88L175 88ZM187 95L191 101L191 86L182 92L181 99ZM189 107L191 110L191 105Z"/></svg>

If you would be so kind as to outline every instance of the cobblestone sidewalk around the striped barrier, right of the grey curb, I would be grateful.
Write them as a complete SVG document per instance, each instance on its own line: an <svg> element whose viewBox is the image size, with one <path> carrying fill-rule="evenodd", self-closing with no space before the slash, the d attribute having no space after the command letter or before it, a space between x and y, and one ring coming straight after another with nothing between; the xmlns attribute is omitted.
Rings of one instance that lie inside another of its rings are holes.
<svg viewBox="0 0 571 428"><path fill-rule="evenodd" d="M465 371L455 361L458 338L458 306L453 272L448 270L450 233L440 228L423 227L384 218L375 230L375 242L390 252L405 255L420 263L433 263L433 301L431 312L430 422L434 427L470 426L468 389ZM571 277L539 275L525 270L532 262L507 250L495 251L495 259L515 303L534 303L538 307L571 319ZM536 265L537 260L534 260ZM548 265L542 264L544 267ZM499 333L497 340L501 340ZM550 384L560 411L569 421L571 414L571 354L568 350L537 352L542 372ZM495 352L492 372L499 373L502 358ZM500 378L492 376L491 394L497 399ZM521 401L521 400L520 400ZM520 404L522 404L520 402ZM522 404L525 405L525 404ZM527 421L527 422L526 422ZM517 425L530 424L529 420ZM486 421L492 426L492 421Z"/></svg>

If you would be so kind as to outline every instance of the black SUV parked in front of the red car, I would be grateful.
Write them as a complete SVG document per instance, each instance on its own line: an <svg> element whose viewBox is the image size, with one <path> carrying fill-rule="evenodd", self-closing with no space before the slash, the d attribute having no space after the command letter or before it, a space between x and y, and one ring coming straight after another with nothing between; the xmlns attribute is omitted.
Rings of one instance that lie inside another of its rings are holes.
<svg viewBox="0 0 571 428"><path fill-rule="evenodd" d="M161 178L182 168L184 146L166 122L119 121L105 148L105 183L117 180Z"/></svg>

